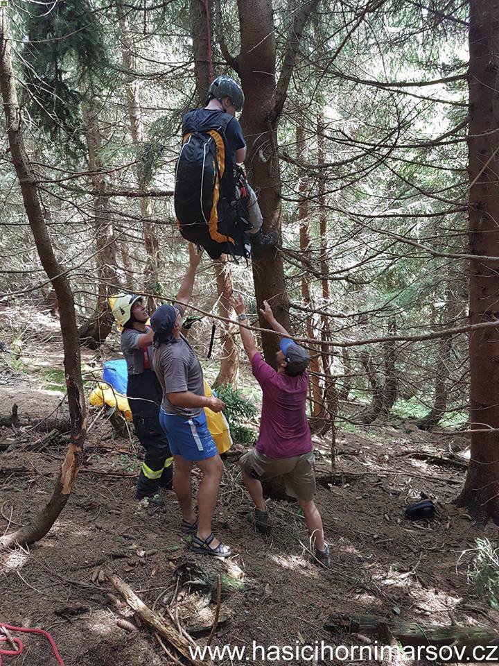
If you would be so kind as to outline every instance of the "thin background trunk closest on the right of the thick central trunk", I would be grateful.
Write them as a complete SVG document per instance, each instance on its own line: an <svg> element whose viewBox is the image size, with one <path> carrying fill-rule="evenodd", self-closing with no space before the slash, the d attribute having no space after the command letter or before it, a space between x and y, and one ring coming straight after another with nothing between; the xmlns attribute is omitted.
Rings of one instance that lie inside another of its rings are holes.
<svg viewBox="0 0 499 666"><path fill-rule="evenodd" d="M306 162L307 150L306 150L306 117L303 110L299 110L297 117L297 127L296 127L296 154L297 162L304 163ZM300 241L300 251L301 255L310 263L310 248L312 246L312 239L310 238L310 219L308 216L308 179L305 169L299 167L298 169L298 219L299 219L299 241ZM310 285L308 284L308 273L306 272L306 264L304 264L304 270L301 273L301 300L305 307L311 307L312 298L310 296ZM308 314L306 316L306 334L309 340L315 339L315 330L313 327L313 315ZM312 353L315 354L317 350L312 348ZM319 373L321 371L319 364L319 357L313 356L312 361L310 361L310 370L312 374L310 375L310 386L311 386L311 413L313 419L324 418L324 402L321 393L321 387L319 385ZM315 374L314 374L315 373ZM310 424L310 427L312 425Z"/></svg>

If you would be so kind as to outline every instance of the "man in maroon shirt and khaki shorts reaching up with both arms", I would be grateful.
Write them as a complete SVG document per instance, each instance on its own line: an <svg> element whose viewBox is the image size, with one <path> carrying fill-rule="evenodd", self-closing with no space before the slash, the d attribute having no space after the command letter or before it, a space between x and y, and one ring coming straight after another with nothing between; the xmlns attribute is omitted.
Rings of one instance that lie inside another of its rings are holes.
<svg viewBox="0 0 499 666"><path fill-rule="evenodd" d="M261 481L273 477L284 478L288 494L297 497L304 512L308 533L315 543L315 559L329 567L329 545L324 542L322 519L313 497L315 472L312 437L306 418L308 373L310 357L303 347L290 339L274 318L266 300L261 313L270 326L281 336L277 352L277 370L269 366L256 350L252 332L247 327L245 305L240 296L234 297L234 309L239 322L240 336L245 352L252 364L252 372L262 393L262 411L256 449L239 461L243 481L255 504L256 529L269 533L270 518L263 499Z"/></svg>

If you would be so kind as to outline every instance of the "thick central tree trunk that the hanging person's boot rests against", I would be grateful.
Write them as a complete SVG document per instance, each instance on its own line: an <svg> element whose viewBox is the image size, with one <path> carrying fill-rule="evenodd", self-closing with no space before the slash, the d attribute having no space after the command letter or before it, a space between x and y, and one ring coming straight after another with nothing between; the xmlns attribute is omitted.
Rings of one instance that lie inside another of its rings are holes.
<svg viewBox="0 0 499 666"><path fill-rule="evenodd" d="M259 197L263 232L275 231L281 241L281 173L277 155L277 120L270 117L275 105L276 44L270 0L238 0L241 50L238 56L245 106L240 122L247 141L245 165L249 185ZM252 259L257 305L268 300L277 321L291 332L281 253L264 250ZM268 328L261 318L261 326ZM275 366L279 338L262 334L265 361Z"/></svg>

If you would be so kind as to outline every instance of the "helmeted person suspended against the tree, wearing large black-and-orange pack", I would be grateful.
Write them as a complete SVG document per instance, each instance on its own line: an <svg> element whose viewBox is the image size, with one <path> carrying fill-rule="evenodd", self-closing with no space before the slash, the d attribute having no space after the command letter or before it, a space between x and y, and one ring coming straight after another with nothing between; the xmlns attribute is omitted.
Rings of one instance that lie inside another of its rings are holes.
<svg viewBox="0 0 499 666"><path fill-rule="evenodd" d="M243 89L230 76L218 76L208 89L206 106L182 119L184 143L175 173L175 214L182 235L207 249L213 259L222 253L249 256L272 248L277 234L263 234L263 217L253 189L238 164L246 157L243 130L236 111L244 104Z"/></svg>

